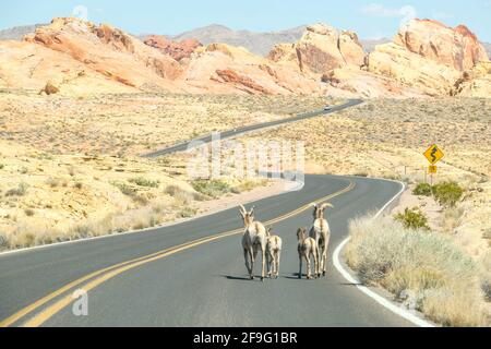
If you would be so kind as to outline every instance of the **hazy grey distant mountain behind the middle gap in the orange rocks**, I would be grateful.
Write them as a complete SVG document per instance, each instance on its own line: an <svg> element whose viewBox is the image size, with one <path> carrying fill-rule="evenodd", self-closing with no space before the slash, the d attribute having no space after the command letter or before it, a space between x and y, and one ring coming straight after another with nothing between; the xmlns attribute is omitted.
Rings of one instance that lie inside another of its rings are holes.
<svg viewBox="0 0 491 349"><path fill-rule="evenodd" d="M196 39L204 45L224 43L246 47L249 51L266 56L277 44L298 41L307 26L299 26L280 32L254 33L249 31L232 31L223 25L208 25L189 31L172 37L173 40Z"/></svg>

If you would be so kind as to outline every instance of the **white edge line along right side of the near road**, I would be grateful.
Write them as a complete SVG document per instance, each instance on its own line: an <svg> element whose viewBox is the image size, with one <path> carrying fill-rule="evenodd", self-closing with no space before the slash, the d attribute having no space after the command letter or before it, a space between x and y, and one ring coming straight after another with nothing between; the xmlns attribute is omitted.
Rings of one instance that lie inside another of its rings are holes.
<svg viewBox="0 0 491 349"><path fill-rule="evenodd" d="M390 201L387 202L384 207L382 207L376 215L373 217L373 219L379 218L384 210L394 202L396 201L406 190L406 184L399 181L392 181L392 182L396 182L399 183L403 188L400 189L400 191ZM393 313L406 318L407 321L411 322L412 324L419 326L419 327L434 327L433 324L427 322L423 318L420 318L419 316L410 313L409 311L407 311L406 309L398 306L396 303L390 301L388 299L378 294L376 292L372 291L371 289L369 289L367 286L363 286L360 284L359 280L357 280L355 277L351 276L350 273L348 273L344 267L343 264L340 263L339 256L340 253L343 252L344 248L348 244L348 242L351 240L351 237L348 237L345 241L343 241L336 249L336 251L334 251L334 255L333 255L333 261L334 261L334 266L336 267L337 272L339 272L339 274L350 284L356 285L356 287L363 292L366 296L370 297L371 299L373 299L375 302L378 302L379 304L381 304L382 306L388 309L390 311L392 311Z"/></svg>

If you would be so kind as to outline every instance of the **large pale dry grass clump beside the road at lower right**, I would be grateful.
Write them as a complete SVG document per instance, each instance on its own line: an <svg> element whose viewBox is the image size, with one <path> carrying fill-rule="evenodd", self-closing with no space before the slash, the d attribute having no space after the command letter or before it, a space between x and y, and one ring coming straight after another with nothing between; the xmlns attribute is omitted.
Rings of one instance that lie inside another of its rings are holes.
<svg viewBox="0 0 491 349"><path fill-rule="evenodd" d="M489 318L477 263L443 236L412 230L391 218L355 219L345 256L368 284L398 299L414 294L414 306L445 326L487 326Z"/></svg>

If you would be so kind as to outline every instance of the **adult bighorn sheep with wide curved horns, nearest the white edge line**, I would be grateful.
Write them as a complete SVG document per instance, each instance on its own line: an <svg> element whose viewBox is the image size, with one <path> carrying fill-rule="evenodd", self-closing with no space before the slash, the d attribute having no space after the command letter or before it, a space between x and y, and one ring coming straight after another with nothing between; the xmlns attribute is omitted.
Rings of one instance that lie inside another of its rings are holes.
<svg viewBox="0 0 491 349"><path fill-rule="evenodd" d="M313 204L314 222L310 229L309 236L313 238L318 244L318 260L319 260L319 273L322 270L322 275L325 276L327 270L327 249L331 239L331 229L327 220L324 218L324 210L327 207L334 208L332 204Z"/></svg>

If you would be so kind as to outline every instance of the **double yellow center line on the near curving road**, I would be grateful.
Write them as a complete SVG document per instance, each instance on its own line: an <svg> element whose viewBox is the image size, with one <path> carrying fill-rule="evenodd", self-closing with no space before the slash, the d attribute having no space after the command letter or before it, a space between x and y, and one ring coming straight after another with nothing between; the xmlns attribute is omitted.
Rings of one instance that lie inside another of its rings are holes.
<svg viewBox="0 0 491 349"><path fill-rule="evenodd" d="M336 196L343 195L347 192L352 191L355 189L355 186L356 186L356 184L354 182L350 182L347 188L345 188L336 193L333 193L331 195L319 198L316 202L322 203L322 202L328 201L331 198L334 198ZM310 204L304 205L304 206L302 206L294 212L290 212L284 216L268 220L265 222L265 225L271 226L271 225L277 224L277 222L288 219L290 217L297 216L297 215L308 210L309 208L311 208ZM71 293L68 293L64 297L62 297L60 300L53 302L52 304L46 306L43 310L41 310L41 306L44 306L48 302L53 301L56 298L67 293L68 291L74 289L75 287L79 287L79 289L82 289L85 292L88 292L88 291L93 290L94 288L100 286L101 284L106 282L107 280L109 280L118 275L121 275L124 272L131 270L133 268L136 268L139 266L142 266L142 265L151 263L151 262L155 262L155 261L165 258L169 255L182 252L184 250L189 250L189 249L199 246L201 244L205 244L205 243L213 242L216 240L221 240L221 239L225 239L225 238L228 238L228 237L231 237L235 234L239 234L242 232L243 232L243 229L237 229L237 230L227 231L227 232L218 233L215 236L197 239L197 240L187 242L187 243L173 246L173 248L169 248L169 249L156 252L156 253L148 254L146 256L142 256L142 257L139 257L135 260L116 264L116 265L109 266L107 268L103 268L100 270L94 272L92 274L88 274L80 279L76 279L76 280L61 287L60 289L56 290L55 292L47 294L46 297L37 300L36 302L32 303L31 305L27 305L26 308L20 310L15 314L7 317L5 320L0 322L0 327L12 326L13 324L19 322L23 317L27 316L28 314L33 314L33 315L26 322L24 322L22 326L25 326L25 327L41 326L53 315L59 313L65 306L70 305L70 303L72 303L74 301L74 299L72 298ZM84 284L84 282L86 282L86 284ZM81 286L82 284L84 284L84 285Z"/></svg>

